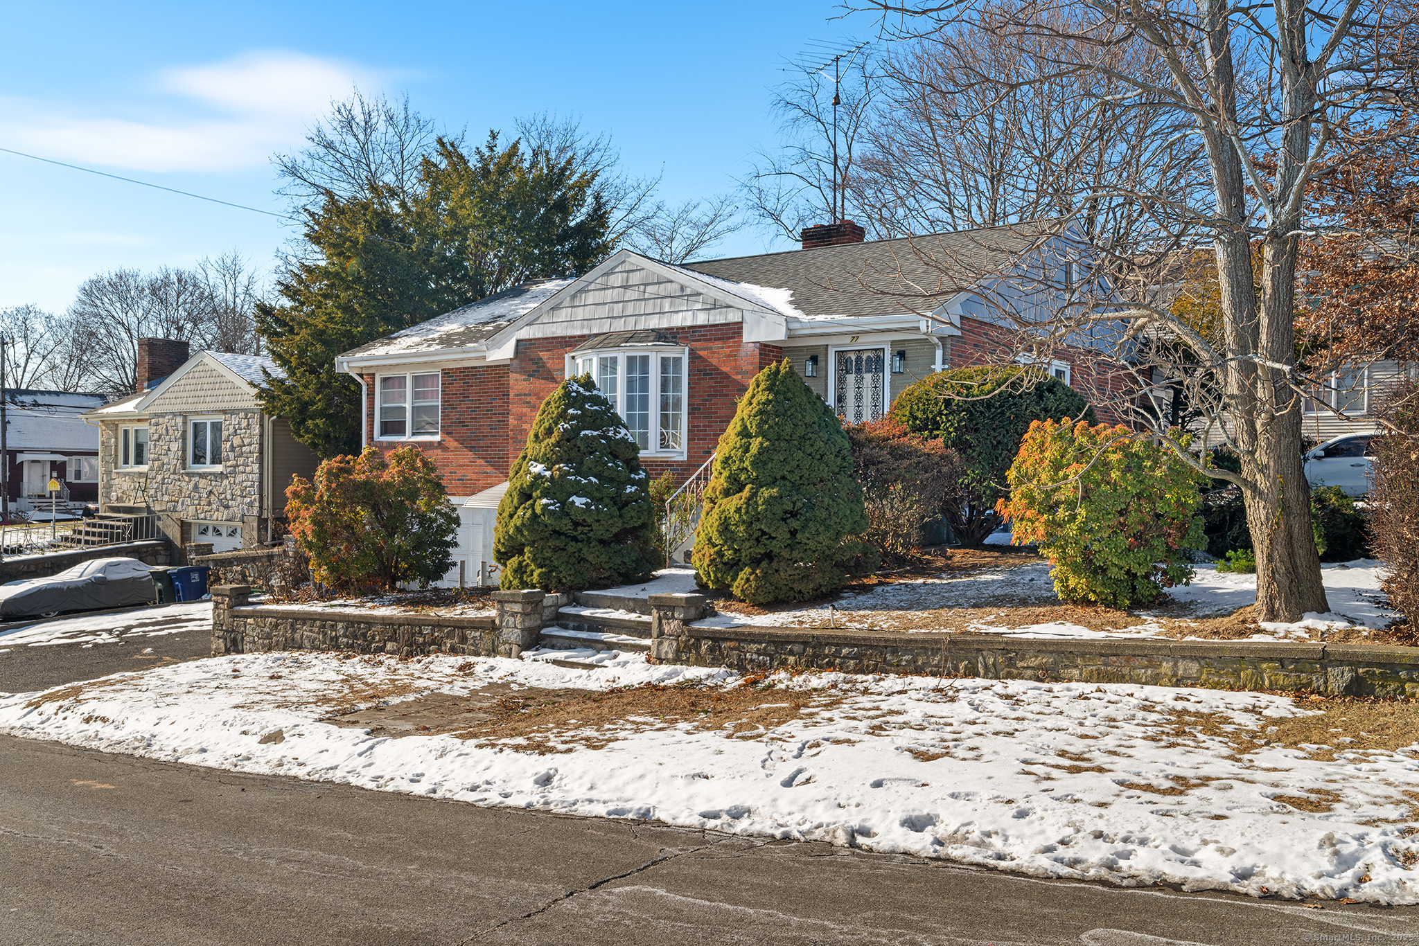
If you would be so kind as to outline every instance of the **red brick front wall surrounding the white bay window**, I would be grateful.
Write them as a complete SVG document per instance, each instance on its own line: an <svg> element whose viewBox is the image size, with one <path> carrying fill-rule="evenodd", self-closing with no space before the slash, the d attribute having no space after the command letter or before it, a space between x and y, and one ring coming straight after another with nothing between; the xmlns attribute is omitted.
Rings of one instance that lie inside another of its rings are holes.
<svg viewBox="0 0 1419 946"><path fill-rule="evenodd" d="M651 477L668 469L678 482L715 451L719 434L734 417L735 401L761 369L783 356L783 349L744 342L738 322L670 329L666 335L690 347L685 460L644 458L643 462ZM522 452L538 407L565 380L566 356L590 338L524 340L518 342L509 365L444 369L437 441L376 441L375 376L366 374L366 443L380 450L413 443L438 464L451 495L468 496L495 486L508 478L508 468Z"/></svg>

